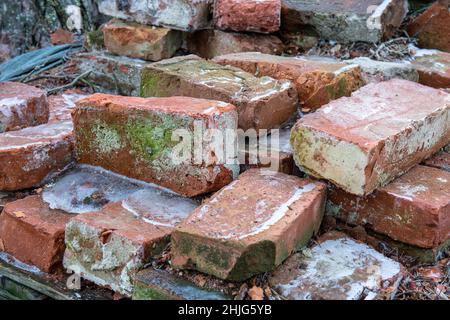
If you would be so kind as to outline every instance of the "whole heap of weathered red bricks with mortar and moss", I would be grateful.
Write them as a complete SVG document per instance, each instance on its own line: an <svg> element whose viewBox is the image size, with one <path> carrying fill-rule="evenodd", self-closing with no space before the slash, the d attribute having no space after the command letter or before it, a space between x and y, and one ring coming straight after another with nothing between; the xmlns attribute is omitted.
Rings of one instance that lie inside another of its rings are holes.
<svg viewBox="0 0 450 320"><path fill-rule="evenodd" d="M255 298L380 299L394 298L405 267L321 234L324 217L427 261L448 249L450 53L436 50L449 51L444 41L429 49L434 24L412 22L425 48L408 63L279 55L277 35L306 27L388 39L407 1L99 9L113 18L73 62L101 93L0 83L0 196L30 194L2 205L0 260L133 299L228 299L265 273L273 292Z"/></svg>

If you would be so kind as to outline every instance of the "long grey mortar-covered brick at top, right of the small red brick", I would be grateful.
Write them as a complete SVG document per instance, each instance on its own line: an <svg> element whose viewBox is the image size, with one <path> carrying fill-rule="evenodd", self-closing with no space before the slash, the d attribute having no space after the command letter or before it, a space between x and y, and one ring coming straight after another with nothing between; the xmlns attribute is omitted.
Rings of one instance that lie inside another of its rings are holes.
<svg viewBox="0 0 450 320"><path fill-rule="evenodd" d="M313 29L327 40L379 42L395 34L408 12L406 0L283 0L282 28Z"/></svg>

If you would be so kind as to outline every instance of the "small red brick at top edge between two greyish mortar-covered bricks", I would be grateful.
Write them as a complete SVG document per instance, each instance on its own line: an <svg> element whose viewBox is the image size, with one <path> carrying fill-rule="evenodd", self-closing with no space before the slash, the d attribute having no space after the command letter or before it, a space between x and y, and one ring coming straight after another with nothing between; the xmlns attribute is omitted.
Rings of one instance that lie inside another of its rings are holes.
<svg viewBox="0 0 450 320"><path fill-rule="evenodd" d="M216 0L214 23L222 30L277 32L281 24L281 0Z"/></svg>

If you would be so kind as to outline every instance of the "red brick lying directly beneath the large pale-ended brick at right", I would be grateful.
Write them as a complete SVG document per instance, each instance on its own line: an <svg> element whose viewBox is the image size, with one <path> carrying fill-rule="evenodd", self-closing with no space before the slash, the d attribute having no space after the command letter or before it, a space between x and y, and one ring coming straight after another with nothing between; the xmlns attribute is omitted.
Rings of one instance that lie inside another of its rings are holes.
<svg viewBox="0 0 450 320"><path fill-rule="evenodd" d="M391 239L436 248L450 239L450 173L416 166L367 197L330 188L327 213Z"/></svg>

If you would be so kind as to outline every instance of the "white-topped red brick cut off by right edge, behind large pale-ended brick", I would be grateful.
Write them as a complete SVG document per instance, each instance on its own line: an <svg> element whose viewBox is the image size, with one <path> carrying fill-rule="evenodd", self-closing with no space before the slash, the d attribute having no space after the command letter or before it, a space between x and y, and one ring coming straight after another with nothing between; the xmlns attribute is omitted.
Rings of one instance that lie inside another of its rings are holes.
<svg viewBox="0 0 450 320"><path fill-rule="evenodd" d="M419 83L433 88L450 87L450 53L416 50L411 64L419 73Z"/></svg>

